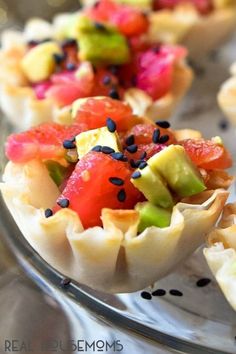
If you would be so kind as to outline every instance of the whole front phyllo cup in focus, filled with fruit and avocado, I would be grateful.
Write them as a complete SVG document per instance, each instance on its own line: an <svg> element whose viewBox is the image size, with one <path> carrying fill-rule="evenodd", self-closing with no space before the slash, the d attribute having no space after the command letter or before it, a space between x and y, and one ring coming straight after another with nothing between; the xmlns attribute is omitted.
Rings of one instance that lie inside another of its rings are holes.
<svg viewBox="0 0 236 354"><path fill-rule="evenodd" d="M68 277L132 292L204 242L228 196L219 137L172 130L108 97L79 99L73 124L12 134L0 188L19 229Z"/></svg>

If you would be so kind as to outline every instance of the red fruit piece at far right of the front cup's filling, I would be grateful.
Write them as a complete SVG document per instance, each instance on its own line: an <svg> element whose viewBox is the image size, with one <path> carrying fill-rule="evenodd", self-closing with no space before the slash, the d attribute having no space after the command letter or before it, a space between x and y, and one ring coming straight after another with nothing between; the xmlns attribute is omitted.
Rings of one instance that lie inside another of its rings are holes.
<svg viewBox="0 0 236 354"><path fill-rule="evenodd" d="M211 140L187 139L180 142L191 160L206 170L225 169L232 166L232 158L228 150Z"/></svg>

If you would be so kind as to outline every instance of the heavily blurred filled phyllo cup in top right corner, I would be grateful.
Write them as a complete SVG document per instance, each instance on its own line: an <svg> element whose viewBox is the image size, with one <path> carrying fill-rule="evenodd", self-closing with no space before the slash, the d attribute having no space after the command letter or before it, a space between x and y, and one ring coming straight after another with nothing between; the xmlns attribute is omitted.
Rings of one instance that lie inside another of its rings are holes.
<svg viewBox="0 0 236 354"><path fill-rule="evenodd" d="M149 40L181 43L189 49L193 59L216 49L236 27L235 0L116 0L116 2L149 10ZM91 3L98 2L84 0L84 4Z"/></svg>

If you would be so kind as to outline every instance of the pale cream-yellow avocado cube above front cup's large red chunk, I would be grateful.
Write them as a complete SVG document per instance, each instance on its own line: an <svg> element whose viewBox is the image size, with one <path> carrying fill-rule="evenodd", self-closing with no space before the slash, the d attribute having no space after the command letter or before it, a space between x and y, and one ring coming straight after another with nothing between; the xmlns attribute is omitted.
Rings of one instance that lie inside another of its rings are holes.
<svg viewBox="0 0 236 354"><path fill-rule="evenodd" d="M76 136L75 141L80 159L97 145L109 146L117 152L120 151L117 133L111 133L107 127L83 132Z"/></svg>

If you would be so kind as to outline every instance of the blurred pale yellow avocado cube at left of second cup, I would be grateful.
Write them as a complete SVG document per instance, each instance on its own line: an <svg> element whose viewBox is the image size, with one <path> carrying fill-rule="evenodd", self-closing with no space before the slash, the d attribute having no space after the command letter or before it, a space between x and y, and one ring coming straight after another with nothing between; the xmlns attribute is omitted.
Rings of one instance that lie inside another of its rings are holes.
<svg viewBox="0 0 236 354"><path fill-rule="evenodd" d="M50 77L56 67L54 54L62 54L55 42L39 44L26 53L21 66L29 81L39 82Z"/></svg>

